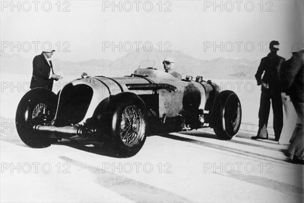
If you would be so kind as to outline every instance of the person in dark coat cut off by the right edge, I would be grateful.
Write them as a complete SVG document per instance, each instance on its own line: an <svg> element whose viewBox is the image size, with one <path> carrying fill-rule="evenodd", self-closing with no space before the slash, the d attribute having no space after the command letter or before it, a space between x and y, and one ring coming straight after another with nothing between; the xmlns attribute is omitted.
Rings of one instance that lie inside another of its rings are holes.
<svg viewBox="0 0 304 203"><path fill-rule="evenodd" d="M298 117L288 153L295 163L304 164L304 43L293 44L291 52L291 59L284 63L281 95L283 101L290 95Z"/></svg>

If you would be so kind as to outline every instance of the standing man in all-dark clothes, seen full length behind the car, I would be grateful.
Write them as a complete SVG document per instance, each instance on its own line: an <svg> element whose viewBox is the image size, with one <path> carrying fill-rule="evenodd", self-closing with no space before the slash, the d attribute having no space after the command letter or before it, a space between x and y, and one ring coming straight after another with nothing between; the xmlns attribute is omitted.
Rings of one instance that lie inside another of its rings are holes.
<svg viewBox="0 0 304 203"><path fill-rule="evenodd" d="M270 42L270 53L267 57L262 58L261 63L255 74L257 85L261 85L260 108L258 112L258 132L252 139L268 139L268 118L270 112L270 104L274 113L273 128L275 131L275 140L279 141L283 127L283 106L280 88L280 68L285 61L283 57L277 55L279 42ZM263 78L262 77L262 74Z"/></svg>

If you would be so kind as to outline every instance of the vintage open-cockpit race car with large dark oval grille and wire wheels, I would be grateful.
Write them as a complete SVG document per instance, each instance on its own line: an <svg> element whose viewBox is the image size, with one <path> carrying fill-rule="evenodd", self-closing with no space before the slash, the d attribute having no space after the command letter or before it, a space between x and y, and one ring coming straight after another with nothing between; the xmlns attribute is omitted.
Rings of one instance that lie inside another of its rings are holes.
<svg viewBox="0 0 304 203"><path fill-rule="evenodd" d="M200 76L179 80L149 67L125 77L83 74L57 95L31 89L18 105L16 127L22 141L34 148L61 139L94 140L119 156L133 156L153 133L210 127L218 138L231 139L241 114L233 91L220 92Z"/></svg>

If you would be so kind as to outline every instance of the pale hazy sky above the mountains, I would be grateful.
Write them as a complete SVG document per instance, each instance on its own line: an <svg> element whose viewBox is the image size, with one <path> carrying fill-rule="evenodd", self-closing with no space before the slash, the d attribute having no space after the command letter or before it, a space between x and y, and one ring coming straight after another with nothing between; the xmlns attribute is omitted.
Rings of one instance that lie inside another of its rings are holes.
<svg viewBox="0 0 304 203"><path fill-rule="evenodd" d="M278 54L289 58L291 45L304 38L303 1L13 4L1 1L1 51L27 58L40 54L42 44L48 48L51 43L57 50L54 58L67 61L114 60L131 48L148 51L149 44L156 50L180 50L198 59L259 60L267 55L271 40L278 40ZM112 45L116 45L114 50Z"/></svg>

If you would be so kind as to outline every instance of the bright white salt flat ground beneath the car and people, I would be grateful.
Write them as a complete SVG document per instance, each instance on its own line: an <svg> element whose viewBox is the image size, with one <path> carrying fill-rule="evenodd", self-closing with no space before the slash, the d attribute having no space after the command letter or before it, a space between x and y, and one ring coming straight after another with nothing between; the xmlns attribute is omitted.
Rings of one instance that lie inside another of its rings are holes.
<svg viewBox="0 0 304 203"><path fill-rule="evenodd" d="M94 143L23 144L14 118L29 80L1 75L1 202L303 202L303 166L284 156L271 123L269 140L250 139L260 96L254 80L215 80L241 100L242 125L232 140L216 139L212 129L153 135L126 159Z"/></svg>

